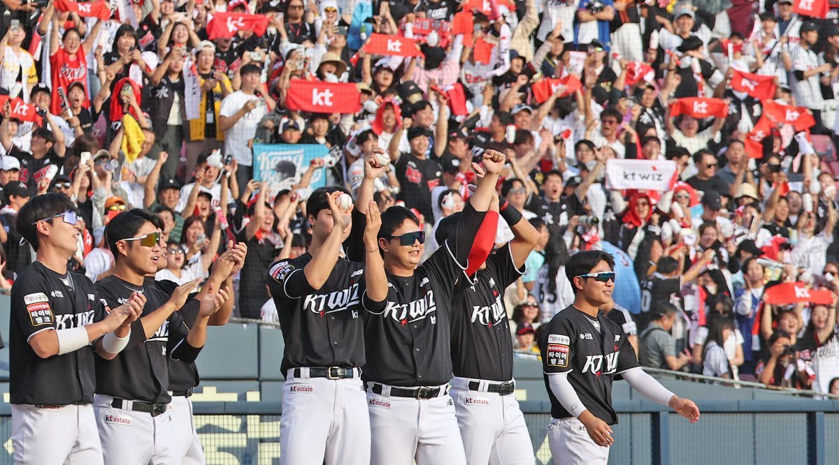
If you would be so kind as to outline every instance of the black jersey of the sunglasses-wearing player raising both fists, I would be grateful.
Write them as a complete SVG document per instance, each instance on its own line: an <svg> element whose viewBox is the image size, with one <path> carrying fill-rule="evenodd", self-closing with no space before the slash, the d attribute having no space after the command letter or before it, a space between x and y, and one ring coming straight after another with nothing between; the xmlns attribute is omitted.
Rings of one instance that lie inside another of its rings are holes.
<svg viewBox="0 0 839 465"><path fill-rule="evenodd" d="M412 276L388 273L385 302L363 302L365 380L407 387L451 380L451 297L486 212L466 204L461 215L455 232Z"/></svg>

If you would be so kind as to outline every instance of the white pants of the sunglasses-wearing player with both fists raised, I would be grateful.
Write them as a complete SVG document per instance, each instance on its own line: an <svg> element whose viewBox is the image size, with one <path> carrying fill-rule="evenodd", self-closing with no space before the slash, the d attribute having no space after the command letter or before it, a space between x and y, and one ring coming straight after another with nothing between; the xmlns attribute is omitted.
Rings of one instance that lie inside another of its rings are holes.
<svg viewBox="0 0 839 465"><path fill-rule="evenodd" d="M369 383L373 385L373 383ZM454 401L440 386L434 399L392 397L367 389L372 465L458 465L466 463Z"/></svg>

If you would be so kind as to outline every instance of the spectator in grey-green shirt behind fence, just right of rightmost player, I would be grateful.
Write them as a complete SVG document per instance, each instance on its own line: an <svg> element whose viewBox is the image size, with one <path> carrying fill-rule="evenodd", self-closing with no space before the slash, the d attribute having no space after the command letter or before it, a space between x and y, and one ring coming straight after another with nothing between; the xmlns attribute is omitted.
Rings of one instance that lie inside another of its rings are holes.
<svg viewBox="0 0 839 465"><path fill-rule="evenodd" d="M671 303L663 303L650 309L652 320L649 326L641 332L638 338L640 356L638 362L642 366L659 369L680 371L690 363L690 354L686 351L676 352L676 340L670 334L679 309Z"/></svg>

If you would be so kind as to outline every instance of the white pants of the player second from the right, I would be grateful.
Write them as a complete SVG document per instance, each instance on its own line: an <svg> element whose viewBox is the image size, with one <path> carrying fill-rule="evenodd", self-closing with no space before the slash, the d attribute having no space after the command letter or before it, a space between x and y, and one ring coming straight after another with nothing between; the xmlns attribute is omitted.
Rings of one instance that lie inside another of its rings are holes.
<svg viewBox="0 0 839 465"><path fill-rule="evenodd" d="M469 390L470 381L477 381L486 390L484 380L451 380L451 398L455 400L466 463L533 465L536 457L530 433L515 396Z"/></svg>

